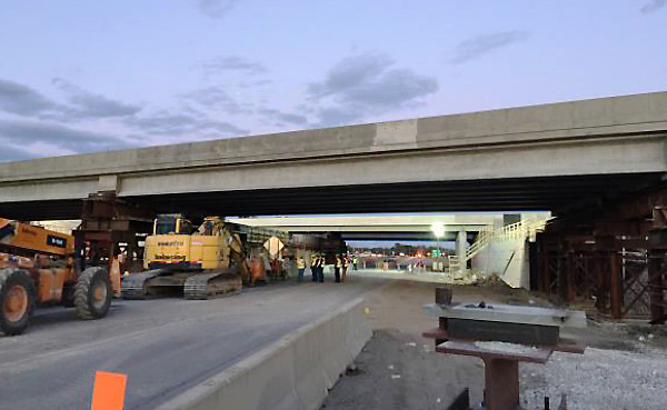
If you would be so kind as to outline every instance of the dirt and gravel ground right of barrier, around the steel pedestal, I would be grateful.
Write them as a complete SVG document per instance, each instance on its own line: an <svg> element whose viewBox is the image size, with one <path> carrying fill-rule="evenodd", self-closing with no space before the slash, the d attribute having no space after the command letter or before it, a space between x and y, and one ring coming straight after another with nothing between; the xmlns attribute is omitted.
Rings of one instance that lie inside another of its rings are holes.
<svg viewBox="0 0 667 410"><path fill-rule="evenodd" d="M369 294L374 338L331 390L327 410L447 409L464 388L481 400L481 360L434 351L424 330L437 326L421 312L432 302L435 283L397 280ZM459 287L455 301L545 306L525 291L502 286ZM521 406L542 409L544 397L568 409L667 409L667 337L640 324L598 324L577 334L584 356L555 353L546 366L521 364ZM556 404L556 406L554 406Z"/></svg>

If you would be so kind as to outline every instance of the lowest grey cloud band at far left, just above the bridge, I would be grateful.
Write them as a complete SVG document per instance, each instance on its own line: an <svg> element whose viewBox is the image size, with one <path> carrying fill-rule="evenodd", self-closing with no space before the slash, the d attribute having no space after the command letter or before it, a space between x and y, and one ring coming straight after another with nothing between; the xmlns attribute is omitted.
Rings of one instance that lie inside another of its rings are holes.
<svg viewBox="0 0 667 410"><path fill-rule="evenodd" d="M26 148L36 157L106 151L131 146L121 138L34 121L0 120L0 139L14 147ZM48 150L49 147L53 152Z"/></svg>

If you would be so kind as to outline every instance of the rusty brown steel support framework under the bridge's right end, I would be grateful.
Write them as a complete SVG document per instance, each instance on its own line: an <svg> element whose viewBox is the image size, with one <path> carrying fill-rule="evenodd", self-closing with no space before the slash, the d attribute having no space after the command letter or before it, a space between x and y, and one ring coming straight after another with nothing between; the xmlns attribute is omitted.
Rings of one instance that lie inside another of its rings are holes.
<svg viewBox="0 0 667 410"><path fill-rule="evenodd" d="M539 234L538 289L609 318L667 321L667 190L610 200Z"/></svg>

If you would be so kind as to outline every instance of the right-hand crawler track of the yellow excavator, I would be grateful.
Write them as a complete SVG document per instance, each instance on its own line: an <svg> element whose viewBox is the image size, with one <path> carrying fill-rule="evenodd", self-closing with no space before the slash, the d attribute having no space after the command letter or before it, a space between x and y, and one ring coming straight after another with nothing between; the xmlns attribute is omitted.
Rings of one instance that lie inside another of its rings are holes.
<svg viewBox="0 0 667 410"><path fill-rule="evenodd" d="M197 273L186 280L186 299L213 299L236 294L241 291L241 276L236 270L217 270Z"/></svg>

